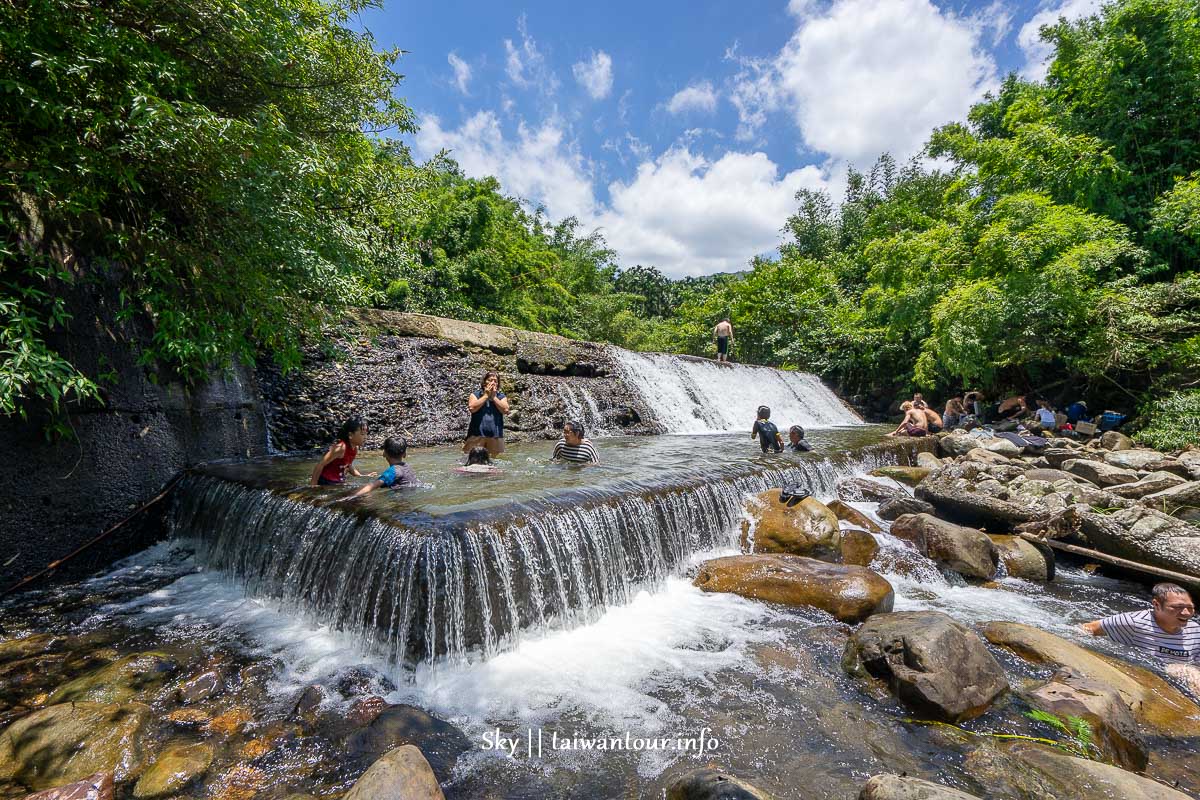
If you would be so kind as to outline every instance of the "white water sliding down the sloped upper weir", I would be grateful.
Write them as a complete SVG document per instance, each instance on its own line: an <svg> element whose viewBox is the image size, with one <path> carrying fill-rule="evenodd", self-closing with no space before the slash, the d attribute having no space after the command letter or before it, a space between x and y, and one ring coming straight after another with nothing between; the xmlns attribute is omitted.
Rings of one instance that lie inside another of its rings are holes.
<svg viewBox="0 0 1200 800"><path fill-rule="evenodd" d="M862 425L828 386L806 372L719 365L662 353L614 349L630 383L646 398L667 433L749 431L760 405L770 420L788 426L827 428Z"/></svg>

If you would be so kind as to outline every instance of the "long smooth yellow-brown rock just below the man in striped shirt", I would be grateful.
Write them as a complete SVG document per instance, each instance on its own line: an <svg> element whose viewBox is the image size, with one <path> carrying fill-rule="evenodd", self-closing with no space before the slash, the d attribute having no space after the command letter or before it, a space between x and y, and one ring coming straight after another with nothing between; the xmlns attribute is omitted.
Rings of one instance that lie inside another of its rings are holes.
<svg viewBox="0 0 1200 800"><path fill-rule="evenodd" d="M1200 706L1154 673L1093 652L1046 631L1020 622L988 622L984 637L1032 663L1067 667L1109 686L1142 726L1163 736L1200 736Z"/></svg>

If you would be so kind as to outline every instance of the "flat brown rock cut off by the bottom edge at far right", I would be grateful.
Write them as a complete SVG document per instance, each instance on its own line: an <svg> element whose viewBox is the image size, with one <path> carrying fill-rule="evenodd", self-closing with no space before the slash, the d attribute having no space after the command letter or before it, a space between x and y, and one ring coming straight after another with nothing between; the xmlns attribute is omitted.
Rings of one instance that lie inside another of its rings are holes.
<svg viewBox="0 0 1200 800"><path fill-rule="evenodd" d="M974 753L967 769L997 798L1070 800L1189 800L1164 783L1034 742L990 747L989 758Z"/></svg>

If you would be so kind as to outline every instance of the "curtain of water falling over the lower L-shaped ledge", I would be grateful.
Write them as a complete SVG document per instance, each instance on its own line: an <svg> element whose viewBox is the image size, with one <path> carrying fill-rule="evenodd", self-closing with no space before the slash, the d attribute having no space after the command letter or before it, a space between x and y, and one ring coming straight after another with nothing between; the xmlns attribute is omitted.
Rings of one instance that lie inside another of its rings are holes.
<svg viewBox="0 0 1200 800"><path fill-rule="evenodd" d="M346 631L395 663L463 661L511 646L524 630L587 622L660 585L692 553L736 546L748 493L800 483L829 497L842 477L894 462L878 449L394 519L191 475L172 531L248 594Z"/></svg>

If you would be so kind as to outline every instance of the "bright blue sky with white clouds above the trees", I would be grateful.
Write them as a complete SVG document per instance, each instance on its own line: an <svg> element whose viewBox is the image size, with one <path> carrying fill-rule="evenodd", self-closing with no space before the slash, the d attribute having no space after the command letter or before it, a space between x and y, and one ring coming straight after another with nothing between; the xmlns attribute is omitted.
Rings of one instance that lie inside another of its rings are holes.
<svg viewBox="0 0 1200 800"><path fill-rule="evenodd" d="M1006 73L1043 74L1042 24L1098 5L384 0L360 22L408 50L418 158L449 150L679 277L774 251L797 190L917 154Z"/></svg>

